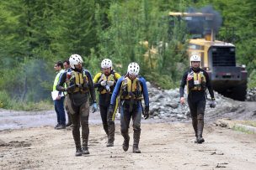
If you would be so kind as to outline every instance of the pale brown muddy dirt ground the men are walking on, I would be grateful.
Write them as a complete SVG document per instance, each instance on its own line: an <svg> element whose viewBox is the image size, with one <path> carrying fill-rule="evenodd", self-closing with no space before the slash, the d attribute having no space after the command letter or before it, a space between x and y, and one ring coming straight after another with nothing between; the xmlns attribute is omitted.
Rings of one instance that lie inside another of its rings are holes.
<svg viewBox="0 0 256 170"><path fill-rule="evenodd" d="M53 128L53 111L1 110L0 169L255 169L256 135L214 124L217 117L255 119L255 102L239 105L236 111L206 116L203 144L194 143L190 121L142 121L141 154L131 152L131 130L130 148L122 150L118 119L115 147L105 147L107 137L97 112L90 116L91 154L83 157L74 157L70 128Z"/></svg>

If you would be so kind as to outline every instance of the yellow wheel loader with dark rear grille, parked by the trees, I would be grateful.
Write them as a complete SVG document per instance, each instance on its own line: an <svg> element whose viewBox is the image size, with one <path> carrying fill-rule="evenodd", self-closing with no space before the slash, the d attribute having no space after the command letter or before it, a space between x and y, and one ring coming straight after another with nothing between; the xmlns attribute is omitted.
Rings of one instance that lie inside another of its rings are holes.
<svg viewBox="0 0 256 170"><path fill-rule="evenodd" d="M216 40L213 13L169 13L171 27L185 23L189 39L188 55L201 57L200 67L210 76L213 90L233 100L245 100L248 72L236 62L234 44Z"/></svg>

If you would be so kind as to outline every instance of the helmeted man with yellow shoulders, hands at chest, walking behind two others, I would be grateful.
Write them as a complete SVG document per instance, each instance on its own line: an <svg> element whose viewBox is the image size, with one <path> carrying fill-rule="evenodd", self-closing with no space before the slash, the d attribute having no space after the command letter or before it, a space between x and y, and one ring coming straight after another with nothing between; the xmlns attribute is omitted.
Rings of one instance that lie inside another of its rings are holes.
<svg viewBox="0 0 256 170"><path fill-rule="evenodd" d="M98 73L93 78L93 83L94 87L98 88L99 91L99 111L104 131L108 136L107 147L114 147L115 111L109 112L109 103L116 81L120 78L120 75L113 70L112 61L110 59L102 60L101 69L102 72Z"/></svg>

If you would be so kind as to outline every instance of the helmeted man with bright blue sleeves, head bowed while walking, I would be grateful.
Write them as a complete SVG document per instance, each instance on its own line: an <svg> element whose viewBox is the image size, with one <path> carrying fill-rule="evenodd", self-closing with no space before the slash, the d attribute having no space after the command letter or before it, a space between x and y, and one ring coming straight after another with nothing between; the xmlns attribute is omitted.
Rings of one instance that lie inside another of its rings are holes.
<svg viewBox="0 0 256 170"><path fill-rule="evenodd" d="M117 95L120 94L120 130L124 137L123 150L129 148L129 124L133 121L133 152L141 153L139 142L141 136L141 113L144 118L149 117L149 99L146 80L139 75L140 66L137 63L128 65L127 74L120 77L113 91L109 112L114 112L114 105ZM145 109L143 111L141 100L144 97Z"/></svg>

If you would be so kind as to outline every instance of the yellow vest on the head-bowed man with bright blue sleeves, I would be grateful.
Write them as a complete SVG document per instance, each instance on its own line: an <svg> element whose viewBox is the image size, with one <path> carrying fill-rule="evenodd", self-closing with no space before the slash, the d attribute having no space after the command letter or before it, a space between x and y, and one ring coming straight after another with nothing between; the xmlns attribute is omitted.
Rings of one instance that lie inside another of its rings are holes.
<svg viewBox="0 0 256 170"><path fill-rule="evenodd" d="M141 100L142 99L142 87L138 78L130 80L128 77L122 81L121 84L120 99L125 100Z"/></svg>

